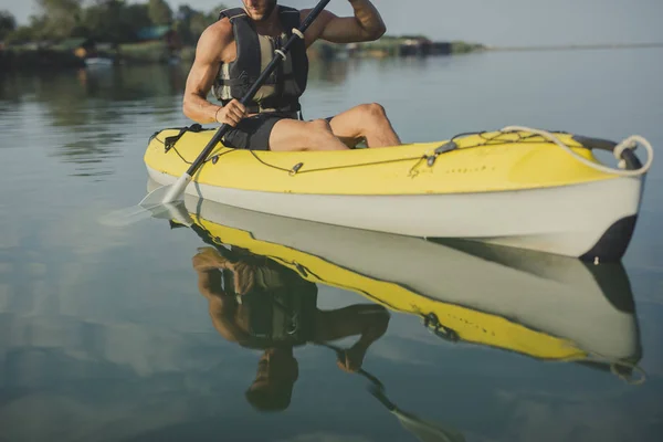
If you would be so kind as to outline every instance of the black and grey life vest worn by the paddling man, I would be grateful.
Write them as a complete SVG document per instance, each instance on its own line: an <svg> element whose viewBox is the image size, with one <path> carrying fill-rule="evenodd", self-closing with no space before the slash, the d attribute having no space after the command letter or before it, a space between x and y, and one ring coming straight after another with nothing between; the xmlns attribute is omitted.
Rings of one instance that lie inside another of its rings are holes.
<svg viewBox="0 0 663 442"><path fill-rule="evenodd" d="M242 8L227 9L219 14L219 20L228 17L232 23L236 44L235 61L221 65L212 86L212 93L223 105L232 98L241 99L249 92L274 57L274 51L285 45L293 28L299 28L299 11L282 6L277 8L284 32L276 38L259 35L253 21ZM286 60L278 63L253 101L248 103L248 112L296 113L301 109L299 97L306 90L307 76L306 43L297 39Z"/></svg>

